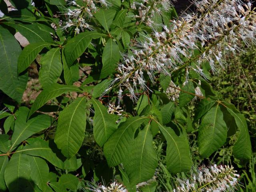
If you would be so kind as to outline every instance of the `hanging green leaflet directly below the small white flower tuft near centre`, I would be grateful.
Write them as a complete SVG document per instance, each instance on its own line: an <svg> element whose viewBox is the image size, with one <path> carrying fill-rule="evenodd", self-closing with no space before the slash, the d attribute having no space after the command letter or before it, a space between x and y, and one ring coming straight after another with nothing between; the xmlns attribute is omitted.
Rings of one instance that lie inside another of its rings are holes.
<svg viewBox="0 0 256 192"><path fill-rule="evenodd" d="M92 98L95 115L93 119L93 135L99 146L103 146L108 138L115 132L117 125L108 114L107 109L97 100Z"/></svg>

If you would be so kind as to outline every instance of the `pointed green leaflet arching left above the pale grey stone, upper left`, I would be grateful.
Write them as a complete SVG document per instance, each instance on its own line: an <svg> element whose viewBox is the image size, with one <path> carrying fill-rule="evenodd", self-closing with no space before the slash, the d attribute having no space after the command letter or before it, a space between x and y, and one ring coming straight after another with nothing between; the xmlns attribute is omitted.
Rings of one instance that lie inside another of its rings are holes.
<svg viewBox="0 0 256 192"><path fill-rule="evenodd" d="M3 22L3 24L6 24L16 29L24 37L26 37L26 39L30 43L52 41L52 36L50 35L50 33L40 30L37 24L24 24L20 22Z"/></svg>

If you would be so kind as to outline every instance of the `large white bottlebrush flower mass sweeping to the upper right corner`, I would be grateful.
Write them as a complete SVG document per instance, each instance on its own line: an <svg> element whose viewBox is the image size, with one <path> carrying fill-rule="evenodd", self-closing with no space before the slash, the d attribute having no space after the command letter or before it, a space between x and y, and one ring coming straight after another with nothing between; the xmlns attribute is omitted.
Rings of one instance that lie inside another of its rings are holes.
<svg viewBox="0 0 256 192"><path fill-rule="evenodd" d="M123 55L123 62L118 65L119 85L130 90L133 100L137 89L148 89L146 76L154 84L159 73L171 76L176 70L186 68L186 82L190 70L206 79L202 67L206 63L217 73L218 68L226 65L224 56L241 51L244 44L256 43L256 13L250 2L197 0L194 3L196 13L162 24L161 32L153 28L152 34L134 43L132 54Z"/></svg>

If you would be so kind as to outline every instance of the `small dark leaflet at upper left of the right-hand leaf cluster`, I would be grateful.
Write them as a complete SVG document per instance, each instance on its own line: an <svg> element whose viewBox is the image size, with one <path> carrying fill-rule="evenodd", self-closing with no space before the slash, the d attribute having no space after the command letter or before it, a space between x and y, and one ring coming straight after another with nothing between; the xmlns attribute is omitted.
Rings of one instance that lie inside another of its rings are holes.
<svg viewBox="0 0 256 192"><path fill-rule="evenodd" d="M198 121L200 118L202 118L202 116L204 116L204 114L206 114L206 112L208 112L215 103L216 101L211 100L210 98L201 100L195 110L194 121Z"/></svg>

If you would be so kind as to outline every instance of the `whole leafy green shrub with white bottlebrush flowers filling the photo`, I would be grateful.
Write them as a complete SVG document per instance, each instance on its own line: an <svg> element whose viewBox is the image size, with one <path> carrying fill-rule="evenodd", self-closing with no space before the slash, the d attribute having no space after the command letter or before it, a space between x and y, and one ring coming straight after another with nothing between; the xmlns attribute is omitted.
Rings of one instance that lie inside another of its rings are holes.
<svg viewBox="0 0 256 192"><path fill-rule="evenodd" d="M12 100L0 113L0 190L76 191L114 176L135 191L156 172L159 138L169 172L191 169L190 132L202 159L233 139L232 156L250 160L246 119L208 83L224 53L254 42L250 3L203 0L178 17L167 0L0 2L0 90ZM28 108L38 57L43 90Z"/></svg>

